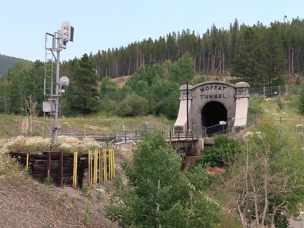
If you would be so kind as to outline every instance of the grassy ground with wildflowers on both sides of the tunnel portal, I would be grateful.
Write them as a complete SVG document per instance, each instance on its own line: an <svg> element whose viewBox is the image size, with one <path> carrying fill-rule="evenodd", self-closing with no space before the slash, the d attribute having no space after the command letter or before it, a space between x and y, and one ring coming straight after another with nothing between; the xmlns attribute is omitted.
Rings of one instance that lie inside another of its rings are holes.
<svg viewBox="0 0 304 228"><path fill-rule="evenodd" d="M259 112L261 116L284 116L299 117L297 107L299 105L298 95L281 98L284 109L278 111L277 98L264 98L262 96L253 96L249 99L249 114ZM22 119L26 116L4 115L0 114L0 137L18 136L21 134ZM118 116L107 116L105 113L97 112L86 116L60 117L58 119L58 133L83 133L84 127L86 133L112 133L114 130L131 130L131 124L143 124L144 122L157 125L171 125L175 120L168 120L163 116L139 116L136 118L122 118ZM26 136L42 136L43 134L43 117L34 117L33 123L29 123L29 132ZM278 122L278 121L276 121ZM282 122L276 123L279 129L288 128L291 132L298 133L301 130L296 126L302 122ZM303 122L304 125L304 122ZM32 133L30 127L32 126Z"/></svg>

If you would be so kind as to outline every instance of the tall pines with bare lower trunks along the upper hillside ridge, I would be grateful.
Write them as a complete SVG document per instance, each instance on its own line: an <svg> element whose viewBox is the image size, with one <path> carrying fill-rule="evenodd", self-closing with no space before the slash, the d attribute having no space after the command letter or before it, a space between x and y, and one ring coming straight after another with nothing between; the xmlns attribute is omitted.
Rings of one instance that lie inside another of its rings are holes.
<svg viewBox="0 0 304 228"><path fill-rule="evenodd" d="M127 47L99 50L93 58L100 76L116 78L138 73L141 65L154 60L162 65L172 63L186 51L193 59L198 74L226 74L243 78L250 84L270 84L277 75L303 72L304 19L273 22L265 26L239 25L237 19L230 28L214 24L202 35L195 31L172 32L167 37L134 42ZM280 79L280 78L279 78Z"/></svg>

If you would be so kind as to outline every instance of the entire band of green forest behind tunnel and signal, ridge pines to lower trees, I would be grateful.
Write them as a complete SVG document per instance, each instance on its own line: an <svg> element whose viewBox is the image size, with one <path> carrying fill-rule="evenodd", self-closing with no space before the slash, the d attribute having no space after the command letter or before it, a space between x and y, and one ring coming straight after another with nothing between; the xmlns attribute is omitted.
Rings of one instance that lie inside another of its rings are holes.
<svg viewBox="0 0 304 228"><path fill-rule="evenodd" d="M245 81L251 88L285 85L283 75L304 76L304 19L285 19L269 26L259 21L239 25L235 19L229 29L213 24L202 35L187 29L63 61L60 77L67 76L70 85L60 97L61 115L103 110L106 115L174 119L179 87L187 82L196 85L229 74L230 82ZM110 80L126 75L130 79L122 88ZM16 61L0 78L0 112L24 114L31 96L43 115L44 78L44 60L33 66Z"/></svg>

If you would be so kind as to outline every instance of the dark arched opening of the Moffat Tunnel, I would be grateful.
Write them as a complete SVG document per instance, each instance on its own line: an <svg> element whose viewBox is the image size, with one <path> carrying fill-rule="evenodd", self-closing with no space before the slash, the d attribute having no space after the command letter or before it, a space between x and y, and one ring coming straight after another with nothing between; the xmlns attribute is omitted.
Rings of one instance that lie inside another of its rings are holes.
<svg viewBox="0 0 304 228"><path fill-rule="evenodd" d="M206 134L226 133L227 109L217 101L206 103L201 112L202 126L206 127Z"/></svg>

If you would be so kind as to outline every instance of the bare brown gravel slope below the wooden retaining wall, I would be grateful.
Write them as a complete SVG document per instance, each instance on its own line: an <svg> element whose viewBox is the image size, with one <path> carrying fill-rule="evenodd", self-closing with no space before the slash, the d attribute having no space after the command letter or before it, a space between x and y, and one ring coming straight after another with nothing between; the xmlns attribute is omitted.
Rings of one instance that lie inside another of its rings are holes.
<svg viewBox="0 0 304 228"><path fill-rule="evenodd" d="M97 186L99 191L92 187L83 195L79 189L48 187L32 178L22 184L7 179L0 176L1 228L119 227L102 216L109 199L107 192L112 189L110 181ZM89 224L84 224L86 201L91 211Z"/></svg>

